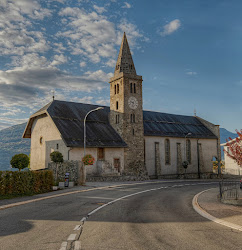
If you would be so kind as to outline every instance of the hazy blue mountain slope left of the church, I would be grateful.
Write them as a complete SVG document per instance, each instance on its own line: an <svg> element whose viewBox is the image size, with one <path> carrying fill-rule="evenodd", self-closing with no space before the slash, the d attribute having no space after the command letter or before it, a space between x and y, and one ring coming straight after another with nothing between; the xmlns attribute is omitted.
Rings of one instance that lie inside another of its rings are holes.
<svg viewBox="0 0 242 250"><path fill-rule="evenodd" d="M27 123L0 130L0 170L11 170L10 160L15 154L30 153L30 139L22 139Z"/></svg>

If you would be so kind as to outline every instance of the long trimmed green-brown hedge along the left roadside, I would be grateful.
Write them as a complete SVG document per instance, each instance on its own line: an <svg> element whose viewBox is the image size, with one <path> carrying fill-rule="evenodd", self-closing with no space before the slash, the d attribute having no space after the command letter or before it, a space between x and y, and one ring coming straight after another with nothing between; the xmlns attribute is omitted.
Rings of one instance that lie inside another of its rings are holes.
<svg viewBox="0 0 242 250"><path fill-rule="evenodd" d="M52 190L53 183L53 172L50 170L0 171L0 195L45 193Z"/></svg>

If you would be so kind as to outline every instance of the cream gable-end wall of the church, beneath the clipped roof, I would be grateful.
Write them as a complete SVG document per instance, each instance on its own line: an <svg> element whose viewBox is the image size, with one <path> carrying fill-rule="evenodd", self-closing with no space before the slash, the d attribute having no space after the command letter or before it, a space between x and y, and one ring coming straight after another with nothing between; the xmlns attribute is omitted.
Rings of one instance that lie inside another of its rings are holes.
<svg viewBox="0 0 242 250"><path fill-rule="evenodd" d="M40 143L41 137L42 143ZM50 162L49 155L57 150L57 143L60 148L58 151L66 155L67 148L52 119L47 115L36 117L31 128L30 167L32 170L47 167L48 162Z"/></svg>

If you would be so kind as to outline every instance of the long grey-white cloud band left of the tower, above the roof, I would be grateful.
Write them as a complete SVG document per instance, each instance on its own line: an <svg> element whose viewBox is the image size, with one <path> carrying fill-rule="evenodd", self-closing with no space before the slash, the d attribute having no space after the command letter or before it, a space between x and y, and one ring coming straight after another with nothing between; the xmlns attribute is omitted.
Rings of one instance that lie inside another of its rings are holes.
<svg viewBox="0 0 242 250"><path fill-rule="evenodd" d="M112 75L98 70L75 76L51 65L45 68L24 66L0 70L0 104L28 106L39 96L45 97L51 89L83 92L102 90Z"/></svg>

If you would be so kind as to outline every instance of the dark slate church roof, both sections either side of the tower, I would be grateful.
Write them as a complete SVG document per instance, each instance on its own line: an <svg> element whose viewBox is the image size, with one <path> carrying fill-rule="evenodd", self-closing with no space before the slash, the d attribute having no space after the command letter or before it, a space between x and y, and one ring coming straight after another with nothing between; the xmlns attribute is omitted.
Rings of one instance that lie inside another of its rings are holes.
<svg viewBox="0 0 242 250"><path fill-rule="evenodd" d="M31 127L36 117L48 115L59 130L67 147L83 147L84 117L97 105L54 100L30 116L24 138L31 138ZM86 120L87 147L127 147L120 135L109 123L110 108L92 112ZM194 116L174 115L143 111L144 135L217 139L217 137Z"/></svg>

